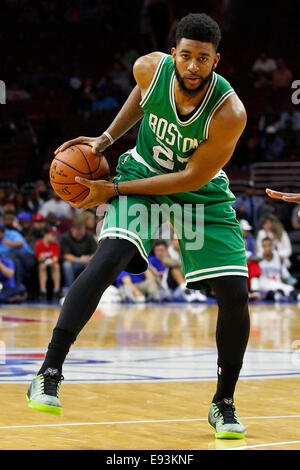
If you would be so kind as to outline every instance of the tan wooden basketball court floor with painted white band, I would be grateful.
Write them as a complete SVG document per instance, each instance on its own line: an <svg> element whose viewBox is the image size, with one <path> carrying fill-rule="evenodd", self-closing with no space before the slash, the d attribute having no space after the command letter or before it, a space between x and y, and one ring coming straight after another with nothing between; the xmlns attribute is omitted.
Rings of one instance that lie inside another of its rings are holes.
<svg viewBox="0 0 300 470"><path fill-rule="evenodd" d="M300 309L251 306L235 403L243 440L207 424L215 391L216 305L105 305L64 367L62 416L27 407L59 308L0 309L1 449L300 449ZM234 341L234 338L232 339Z"/></svg>

